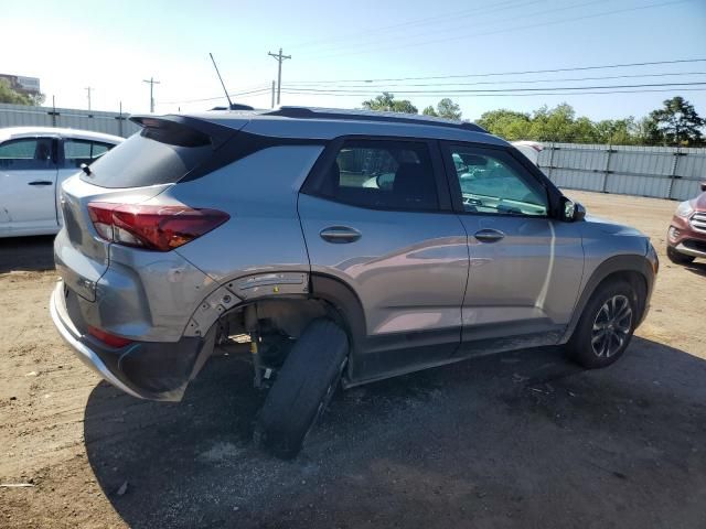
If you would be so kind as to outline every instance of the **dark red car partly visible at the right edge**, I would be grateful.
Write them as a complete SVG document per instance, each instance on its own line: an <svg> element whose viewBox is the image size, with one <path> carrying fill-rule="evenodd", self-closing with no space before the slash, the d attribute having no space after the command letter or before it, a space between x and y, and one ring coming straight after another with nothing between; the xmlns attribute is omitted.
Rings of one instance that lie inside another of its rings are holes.
<svg viewBox="0 0 706 529"><path fill-rule="evenodd" d="M706 182L702 182L700 188L703 193L682 202L672 217L666 255L676 264L706 259Z"/></svg>

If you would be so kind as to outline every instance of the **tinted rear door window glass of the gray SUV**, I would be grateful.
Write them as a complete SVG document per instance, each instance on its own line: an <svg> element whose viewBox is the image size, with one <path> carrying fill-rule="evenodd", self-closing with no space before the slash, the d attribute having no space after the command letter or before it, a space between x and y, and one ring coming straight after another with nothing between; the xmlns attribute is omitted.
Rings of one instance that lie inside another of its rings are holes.
<svg viewBox="0 0 706 529"><path fill-rule="evenodd" d="M439 206L429 150L418 142L346 141L318 194L382 209L434 210Z"/></svg>

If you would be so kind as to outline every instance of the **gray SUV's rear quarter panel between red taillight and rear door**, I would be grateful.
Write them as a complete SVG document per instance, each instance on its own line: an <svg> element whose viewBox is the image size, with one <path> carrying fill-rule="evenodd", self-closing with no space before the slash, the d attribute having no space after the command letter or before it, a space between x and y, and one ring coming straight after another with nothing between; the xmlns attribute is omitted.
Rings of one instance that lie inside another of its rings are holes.
<svg viewBox="0 0 706 529"><path fill-rule="evenodd" d="M220 283L266 271L309 272L297 197L323 145L257 151L157 197L160 204L210 207L231 215L176 251Z"/></svg>

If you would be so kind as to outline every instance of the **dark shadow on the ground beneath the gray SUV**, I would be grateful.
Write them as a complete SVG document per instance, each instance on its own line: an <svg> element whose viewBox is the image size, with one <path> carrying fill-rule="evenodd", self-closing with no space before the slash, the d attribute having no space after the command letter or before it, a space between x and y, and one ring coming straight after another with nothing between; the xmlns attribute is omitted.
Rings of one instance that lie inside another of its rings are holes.
<svg viewBox="0 0 706 529"><path fill-rule="evenodd" d="M179 404L98 385L85 442L133 528L705 527L705 382L641 338L600 371L479 358L340 393L285 463L250 444L249 366L215 357Z"/></svg>

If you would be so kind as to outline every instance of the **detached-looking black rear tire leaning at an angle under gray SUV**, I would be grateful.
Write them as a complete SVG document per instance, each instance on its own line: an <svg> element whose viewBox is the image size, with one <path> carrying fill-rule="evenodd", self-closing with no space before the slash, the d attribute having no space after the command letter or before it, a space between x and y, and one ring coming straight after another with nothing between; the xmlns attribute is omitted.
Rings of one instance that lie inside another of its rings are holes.
<svg viewBox="0 0 706 529"><path fill-rule="evenodd" d="M255 443L278 457L296 457L338 387L347 355L347 336L333 321L307 325L258 413Z"/></svg>

